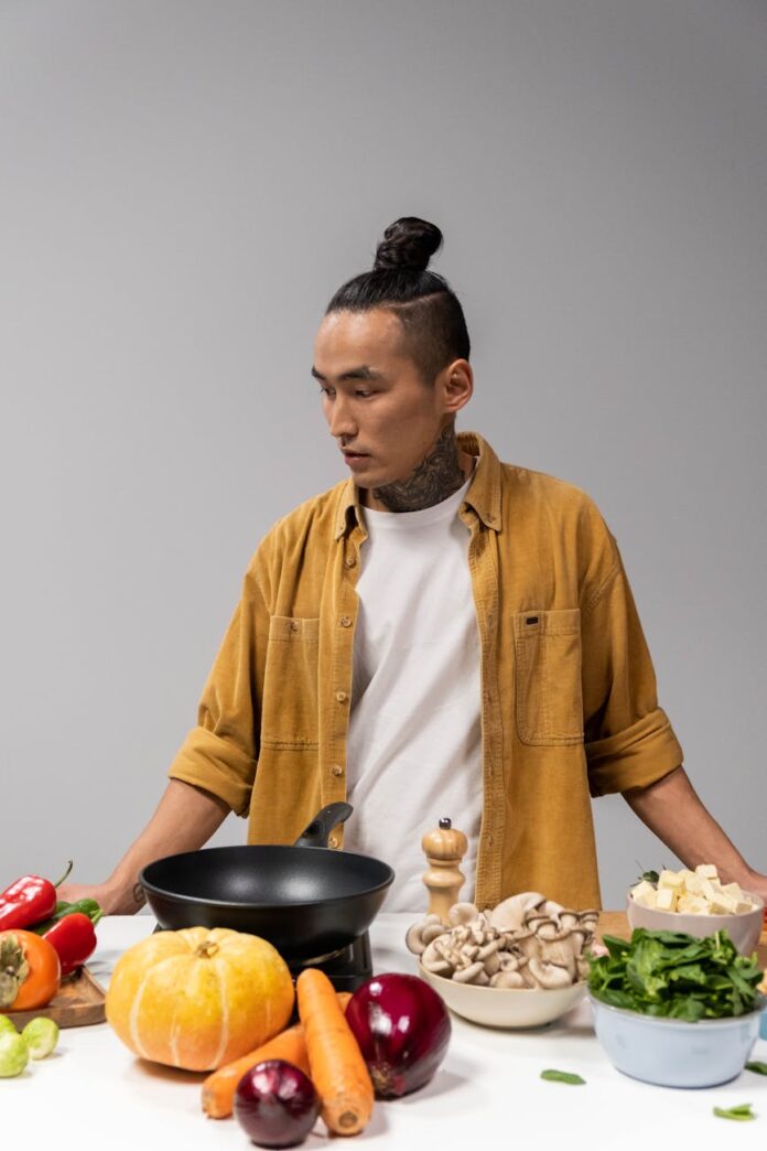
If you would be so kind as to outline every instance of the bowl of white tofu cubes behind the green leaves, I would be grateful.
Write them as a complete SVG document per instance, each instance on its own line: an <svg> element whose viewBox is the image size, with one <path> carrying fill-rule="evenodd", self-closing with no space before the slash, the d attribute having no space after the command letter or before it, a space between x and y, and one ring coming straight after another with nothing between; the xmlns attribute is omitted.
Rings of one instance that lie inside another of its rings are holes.
<svg viewBox="0 0 767 1151"><path fill-rule="evenodd" d="M631 930L683 931L700 939L726 930L742 955L751 955L761 935L765 902L737 883L722 884L713 863L695 871L661 871L657 885L642 879L628 892Z"/></svg>

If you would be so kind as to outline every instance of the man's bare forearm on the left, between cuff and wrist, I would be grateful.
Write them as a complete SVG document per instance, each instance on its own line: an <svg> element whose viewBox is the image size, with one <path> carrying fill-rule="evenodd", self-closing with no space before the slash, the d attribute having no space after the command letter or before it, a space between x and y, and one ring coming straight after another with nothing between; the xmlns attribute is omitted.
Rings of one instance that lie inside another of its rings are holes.
<svg viewBox="0 0 767 1151"><path fill-rule="evenodd" d="M164 855L197 851L216 831L229 808L216 795L171 779L144 831L131 844L103 885L107 909L126 915L144 902L138 883L141 868Z"/></svg>

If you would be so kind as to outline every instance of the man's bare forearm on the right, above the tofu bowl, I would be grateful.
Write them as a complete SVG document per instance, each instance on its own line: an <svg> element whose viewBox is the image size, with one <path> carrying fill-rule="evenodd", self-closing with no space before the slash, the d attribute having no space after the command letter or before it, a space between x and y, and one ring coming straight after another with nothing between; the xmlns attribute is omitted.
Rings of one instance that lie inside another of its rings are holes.
<svg viewBox="0 0 767 1151"><path fill-rule="evenodd" d="M623 799L685 867L715 863L722 882L736 882L747 890L759 886L754 884L757 872L706 810L684 768L677 768L650 787L623 792Z"/></svg>

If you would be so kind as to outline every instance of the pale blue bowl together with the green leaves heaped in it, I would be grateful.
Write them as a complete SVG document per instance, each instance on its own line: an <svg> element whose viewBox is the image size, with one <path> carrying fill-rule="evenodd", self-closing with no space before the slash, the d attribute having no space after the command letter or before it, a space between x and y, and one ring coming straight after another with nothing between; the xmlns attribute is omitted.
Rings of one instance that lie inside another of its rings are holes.
<svg viewBox="0 0 767 1151"><path fill-rule="evenodd" d="M637 928L589 961L597 1038L618 1070L661 1087L714 1087L743 1070L767 1003L756 956L726 931Z"/></svg>

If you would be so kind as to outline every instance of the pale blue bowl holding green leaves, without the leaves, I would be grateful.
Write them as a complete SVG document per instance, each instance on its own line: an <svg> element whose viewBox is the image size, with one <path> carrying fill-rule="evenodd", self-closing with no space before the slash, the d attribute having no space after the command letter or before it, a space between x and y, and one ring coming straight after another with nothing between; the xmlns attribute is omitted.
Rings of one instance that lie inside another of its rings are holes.
<svg viewBox="0 0 767 1151"><path fill-rule="evenodd" d="M743 1070L759 1035L764 1007L747 1015L689 1023L623 1011L591 1000L593 1024L611 1062L632 1078L659 1087L715 1087Z"/></svg>

